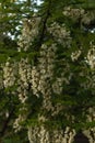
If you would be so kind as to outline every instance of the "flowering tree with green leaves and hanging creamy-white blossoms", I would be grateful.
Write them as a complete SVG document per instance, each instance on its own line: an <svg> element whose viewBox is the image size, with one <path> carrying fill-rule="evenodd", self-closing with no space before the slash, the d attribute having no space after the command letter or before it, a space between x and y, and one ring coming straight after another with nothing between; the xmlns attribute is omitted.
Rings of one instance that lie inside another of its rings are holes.
<svg viewBox="0 0 95 143"><path fill-rule="evenodd" d="M81 130L94 143L94 9L45 0L29 11L1 63L2 142L72 143Z"/></svg>

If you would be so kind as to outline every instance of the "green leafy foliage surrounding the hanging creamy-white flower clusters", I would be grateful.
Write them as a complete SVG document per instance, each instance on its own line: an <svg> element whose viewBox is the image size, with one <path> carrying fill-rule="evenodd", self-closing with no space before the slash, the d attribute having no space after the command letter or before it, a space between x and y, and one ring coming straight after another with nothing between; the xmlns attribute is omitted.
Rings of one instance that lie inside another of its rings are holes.
<svg viewBox="0 0 95 143"><path fill-rule="evenodd" d="M21 133L14 133L12 125L14 119L19 116L19 109L23 107L17 99L16 95L11 94L15 91L16 84L12 87L0 89L0 139L1 143L28 143L26 136L26 128L28 125L35 127L40 125L38 122L38 113L45 114L49 120L44 124L47 128L66 128L67 125L76 129L78 131L82 128L92 128L95 127L95 122L85 122L86 120L86 110L90 107L95 106L95 97L92 91L92 87L84 89L81 87L81 84L86 82L87 76L92 77L92 70L85 62L84 57L86 56L88 50L91 48L90 42L93 41L95 44L95 33L85 31L81 28L80 23L75 23L70 18L67 18L62 14L63 8L67 6L73 6L73 8L84 8L86 10L95 9L94 0L41 0L43 3L38 7L36 2L33 4L31 1L17 1L10 2L10 0L0 1L0 65L4 64L8 57L11 57L10 62L20 62L21 58L28 58L31 65L35 65L35 58L39 57L39 51L43 43L48 47L54 42L52 35L49 35L47 28L54 23L58 22L59 25L66 24L67 30L70 30L72 43L71 47L67 48L66 46L57 43L58 51L55 63L55 75L60 77L61 70L66 69L67 63L70 67L66 73L66 77L69 77L72 74L72 78L69 84L64 84L63 91L61 95L54 94L51 97L51 103L60 103L64 106L64 111L60 111L59 114L51 117L51 112L41 109L43 97L39 94L39 98L33 95L33 91L28 90L28 100L27 100L27 119L21 123L24 127L24 131ZM33 45L29 47L28 52L17 52L17 40L22 30L22 20L27 18L28 20L36 14L40 16L39 33L34 40ZM9 33L11 36L9 36ZM13 36L13 37L12 37ZM71 54L72 52L79 51L82 47L82 55L79 61L72 62ZM64 59L64 63L63 61ZM37 64L37 63L36 63ZM0 73L2 68L0 68ZM80 73L83 73L84 76L80 76ZM56 79L52 79L52 82ZM92 99L92 100L91 100ZM7 110L11 111L13 109L11 119L8 121L5 119ZM21 111L22 112L22 111ZM83 114L85 112L85 114ZM24 111L24 113L26 113ZM67 116L69 119L67 120ZM71 117L75 116L75 122L71 122ZM4 128L3 124L8 121L7 131L2 131Z"/></svg>

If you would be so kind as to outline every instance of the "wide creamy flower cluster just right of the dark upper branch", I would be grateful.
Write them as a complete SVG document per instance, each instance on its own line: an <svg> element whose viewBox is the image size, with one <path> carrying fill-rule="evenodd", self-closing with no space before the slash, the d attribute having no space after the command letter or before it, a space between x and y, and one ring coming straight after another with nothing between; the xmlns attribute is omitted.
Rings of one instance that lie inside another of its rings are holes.
<svg viewBox="0 0 95 143"><path fill-rule="evenodd" d="M50 28L48 28L50 34L52 34L56 42L62 44L63 46L70 47L71 36L70 31L67 30L66 25L59 25L57 22L54 22Z"/></svg>

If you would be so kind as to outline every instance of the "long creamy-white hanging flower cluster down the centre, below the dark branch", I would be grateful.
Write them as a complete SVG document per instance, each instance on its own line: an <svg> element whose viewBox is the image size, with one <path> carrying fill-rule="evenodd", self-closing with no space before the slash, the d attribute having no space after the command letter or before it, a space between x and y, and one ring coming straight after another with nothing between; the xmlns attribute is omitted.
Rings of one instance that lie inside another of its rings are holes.
<svg viewBox="0 0 95 143"><path fill-rule="evenodd" d="M50 46L43 45L41 53L39 57L39 72L40 72L40 80L38 85L38 90L45 95L52 76L54 76L54 66L55 66L55 53L57 46L56 44L51 44ZM49 81L49 82L48 82Z"/></svg>

